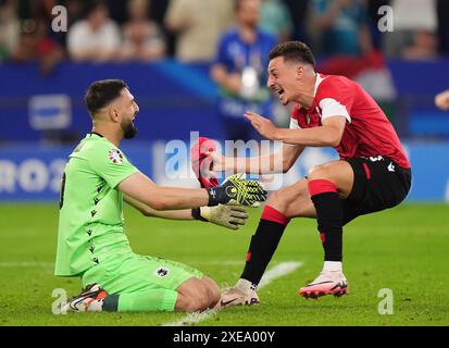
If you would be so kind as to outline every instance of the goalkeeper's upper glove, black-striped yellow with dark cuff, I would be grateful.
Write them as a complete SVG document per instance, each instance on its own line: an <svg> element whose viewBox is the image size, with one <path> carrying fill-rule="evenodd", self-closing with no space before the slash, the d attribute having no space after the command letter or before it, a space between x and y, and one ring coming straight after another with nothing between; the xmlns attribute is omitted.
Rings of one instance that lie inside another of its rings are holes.
<svg viewBox="0 0 449 348"><path fill-rule="evenodd" d="M209 207L235 201L238 204L258 207L266 200L267 191L257 181L247 181L245 174L235 174L226 178L219 187L208 188Z"/></svg>

